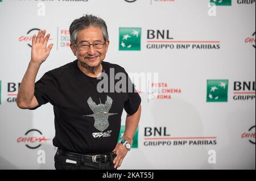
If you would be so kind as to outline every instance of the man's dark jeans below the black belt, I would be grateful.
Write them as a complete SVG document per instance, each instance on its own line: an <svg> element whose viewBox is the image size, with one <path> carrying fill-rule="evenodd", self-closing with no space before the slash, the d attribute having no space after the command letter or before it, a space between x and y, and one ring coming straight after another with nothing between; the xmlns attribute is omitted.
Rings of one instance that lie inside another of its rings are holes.
<svg viewBox="0 0 256 181"><path fill-rule="evenodd" d="M113 159L115 157L116 155ZM113 160L104 163L95 163L85 160L84 163L82 163L81 159L60 155L58 151L55 154L54 161L56 170L116 170L114 169Z"/></svg>

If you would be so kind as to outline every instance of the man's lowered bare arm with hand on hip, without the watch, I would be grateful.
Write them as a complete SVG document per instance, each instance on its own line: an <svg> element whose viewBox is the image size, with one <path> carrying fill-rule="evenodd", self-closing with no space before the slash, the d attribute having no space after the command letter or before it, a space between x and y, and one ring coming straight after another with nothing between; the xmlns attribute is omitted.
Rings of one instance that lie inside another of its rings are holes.
<svg viewBox="0 0 256 181"><path fill-rule="evenodd" d="M133 115L127 114L126 123L125 123L125 133L123 134L123 137L126 137L127 140L130 142L133 140L134 134L139 124L140 117L141 117L141 105L139 105L137 112L135 112ZM113 161L114 167L118 168L122 165L123 158L125 158L128 150L124 145L117 144L117 146L115 146L115 149L113 151L115 152L115 154L117 154L117 157L115 157Z"/></svg>

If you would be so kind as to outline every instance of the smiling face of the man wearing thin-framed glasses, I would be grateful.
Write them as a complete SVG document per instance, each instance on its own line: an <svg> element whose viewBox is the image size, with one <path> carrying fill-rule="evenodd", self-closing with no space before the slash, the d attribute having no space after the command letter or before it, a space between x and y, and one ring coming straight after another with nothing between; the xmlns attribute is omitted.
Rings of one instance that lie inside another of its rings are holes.
<svg viewBox="0 0 256 181"><path fill-rule="evenodd" d="M76 45L71 44L72 52L77 57L77 60L81 64L87 65L89 67L97 67L106 57L106 52L108 52L109 41L106 41L103 48L94 48L92 45L88 50L81 47L84 44L94 44L94 43L105 43L102 31L98 27L89 27L84 30L79 31L77 34Z"/></svg>

